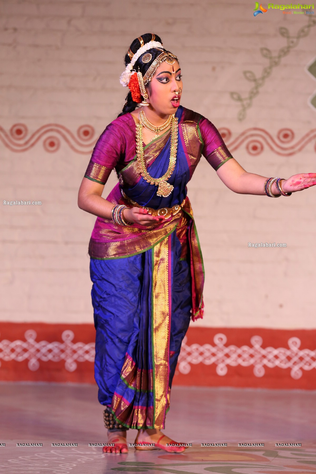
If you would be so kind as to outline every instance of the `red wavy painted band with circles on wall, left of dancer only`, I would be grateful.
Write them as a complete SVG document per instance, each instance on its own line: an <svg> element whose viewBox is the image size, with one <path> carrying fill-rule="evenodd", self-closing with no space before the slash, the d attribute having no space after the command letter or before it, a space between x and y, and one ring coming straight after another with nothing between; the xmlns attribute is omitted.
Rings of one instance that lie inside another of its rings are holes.
<svg viewBox="0 0 316 474"><path fill-rule="evenodd" d="M33 133L28 132L24 123L12 125L9 132L0 127L0 141L15 153L25 152L38 143L42 144L47 153L54 153L59 150L63 142L74 152L89 155L95 145L94 135L95 130L91 125L81 125L76 134L56 123L43 125Z"/></svg>

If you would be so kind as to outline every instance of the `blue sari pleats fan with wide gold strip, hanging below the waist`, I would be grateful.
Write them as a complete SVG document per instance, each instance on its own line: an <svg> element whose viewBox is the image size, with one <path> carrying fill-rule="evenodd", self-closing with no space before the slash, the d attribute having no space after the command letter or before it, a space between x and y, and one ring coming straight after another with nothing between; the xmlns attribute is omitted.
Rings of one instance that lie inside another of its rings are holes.
<svg viewBox="0 0 316 474"><path fill-rule="evenodd" d="M171 246L168 236L146 252L139 341L132 354L126 353L112 400L117 420L131 428L163 428L169 408Z"/></svg>

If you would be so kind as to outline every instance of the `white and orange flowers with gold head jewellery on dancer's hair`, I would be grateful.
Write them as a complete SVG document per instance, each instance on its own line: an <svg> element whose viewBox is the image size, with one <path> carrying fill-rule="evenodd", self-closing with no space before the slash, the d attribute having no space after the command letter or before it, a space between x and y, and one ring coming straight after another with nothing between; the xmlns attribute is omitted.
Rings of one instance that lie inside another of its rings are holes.
<svg viewBox="0 0 316 474"><path fill-rule="evenodd" d="M128 87L132 93L132 99L137 102L138 104L141 103L141 105L146 106L149 105L148 102L146 102L146 99L148 98L147 92L145 90L145 85L151 81L154 73L156 72L156 69L158 68L159 64L161 64L163 61L165 61L168 64L174 64L176 60L178 60L177 56L173 55L169 51L164 51L162 49L163 44L160 43L159 41L154 41L155 35L152 33L152 40L149 41L148 43L144 44L144 40L142 36L139 36L139 42L140 42L140 48L136 51L136 53L133 53L130 49L128 50L127 54L131 58L131 62L127 64L125 71L121 74L119 82L122 84L123 87ZM162 51L160 55L154 59L153 63L149 66L148 70L144 74L144 77L139 70L136 71L133 69L133 66L137 59L143 55L142 57L142 62L144 64L149 63L152 60L152 55L150 53L146 53L148 49L158 49ZM142 96L144 98L142 102Z"/></svg>

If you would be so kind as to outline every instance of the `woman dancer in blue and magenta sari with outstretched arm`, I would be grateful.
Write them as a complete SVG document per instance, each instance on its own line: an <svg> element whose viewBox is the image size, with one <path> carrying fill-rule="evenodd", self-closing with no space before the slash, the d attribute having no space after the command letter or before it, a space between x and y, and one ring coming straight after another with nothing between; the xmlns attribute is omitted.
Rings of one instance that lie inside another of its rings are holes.
<svg viewBox="0 0 316 474"><path fill-rule="evenodd" d="M98 216L89 243L95 380L114 443L103 451L127 452L126 430L137 428L136 449L183 452L161 429L182 339L190 318L203 316L204 267L186 184L201 155L243 194L288 197L315 185L316 173L286 180L246 172L217 128L180 105L180 64L159 36L135 39L125 65L127 101L99 137L78 196ZM118 183L103 199L113 168Z"/></svg>

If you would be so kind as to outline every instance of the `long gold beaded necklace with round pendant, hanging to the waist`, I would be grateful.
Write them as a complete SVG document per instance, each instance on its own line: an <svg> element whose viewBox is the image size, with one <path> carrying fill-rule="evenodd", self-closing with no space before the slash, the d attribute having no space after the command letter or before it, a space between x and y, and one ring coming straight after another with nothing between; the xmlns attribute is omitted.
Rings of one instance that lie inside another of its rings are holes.
<svg viewBox="0 0 316 474"><path fill-rule="evenodd" d="M146 164L144 160L143 124L142 122L136 124L136 154L137 154L138 172L141 173L141 175L143 176L146 182L149 182L150 184L155 184L156 186L158 186L157 196L162 196L163 198L166 198L167 196L169 196L169 194L171 194L173 191L172 184L167 182L167 180L171 177L175 164L176 164L176 160L177 160L178 117L175 117L174 114L172 114L170 117L171 117L171 146L170 146L169 166L166 173L164 173L164 175L161 176L160 178L153 178L153 176L151 176L147 172ZM165 124L163 124L163 126L164 125Z"/></svg>

